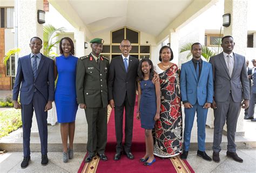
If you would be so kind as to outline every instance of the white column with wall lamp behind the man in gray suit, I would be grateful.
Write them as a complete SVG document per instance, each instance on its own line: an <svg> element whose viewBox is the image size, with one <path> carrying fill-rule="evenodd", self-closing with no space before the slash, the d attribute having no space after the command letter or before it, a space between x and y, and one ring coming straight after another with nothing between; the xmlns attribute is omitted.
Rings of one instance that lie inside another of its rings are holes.
<svg viewBox="0 0 256 173"><path fill-rule="evenodd" d="M225 0L224 13L231 13L231 25L224 27L224 35L232 35L234 52L245 55L247 47L247 0ZM244 134L244 109L237 122L237 134ZM224 130L226 130L226 125Z"/></svg>

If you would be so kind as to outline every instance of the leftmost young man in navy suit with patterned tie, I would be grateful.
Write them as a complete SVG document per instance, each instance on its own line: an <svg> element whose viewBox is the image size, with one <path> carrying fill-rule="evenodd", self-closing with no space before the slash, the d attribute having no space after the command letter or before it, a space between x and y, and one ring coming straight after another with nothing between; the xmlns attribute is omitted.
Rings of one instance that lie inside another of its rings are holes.
<svg viewBox="0 0 256 173"><path fill-rule="evenodd" d="M47 157L47 111L54 100L53 61L40 53L42 40L33 37L30 40L31 53L18 59L12 100L15 109L22 109L23 154L21 168L30 161L30 132L33 111L35 110L41 141L42 165L48 163ZM20 88L21 86L21 88ZM18 103L20 92L21 104Z"/></svg>

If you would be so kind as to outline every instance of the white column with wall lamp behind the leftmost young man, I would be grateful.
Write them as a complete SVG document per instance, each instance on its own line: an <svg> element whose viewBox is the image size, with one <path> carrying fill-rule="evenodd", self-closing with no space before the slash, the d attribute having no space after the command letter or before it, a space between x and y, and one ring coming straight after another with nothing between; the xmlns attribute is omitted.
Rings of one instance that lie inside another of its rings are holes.
<svg viewBox="0 0 256 173"><path fill-rule="evenodd" d="M37 22L37 10L43 10L43 0L16 0L18 12L18 47L21 48L19 57L31 52L29 47L32 37L43 40L43 24ZM41 49L43 53L43 48Z"/></svg>

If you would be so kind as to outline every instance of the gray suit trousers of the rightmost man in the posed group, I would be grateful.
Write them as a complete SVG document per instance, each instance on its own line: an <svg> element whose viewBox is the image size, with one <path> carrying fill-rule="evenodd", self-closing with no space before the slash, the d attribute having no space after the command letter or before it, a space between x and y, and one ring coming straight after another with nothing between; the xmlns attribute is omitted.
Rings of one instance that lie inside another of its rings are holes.
<svg viewBox="0 0 256 173"><path fill-rule="evenodd" d="M214 109L214 134L213 134L213 152L220 152L220 143L223 135L223 127L227 124L227 150L235 152L236 145L235 131L237 129L237 120L241 110L241 102L234 102L232 95L225 102L216 102L217 109Z"/></svg>

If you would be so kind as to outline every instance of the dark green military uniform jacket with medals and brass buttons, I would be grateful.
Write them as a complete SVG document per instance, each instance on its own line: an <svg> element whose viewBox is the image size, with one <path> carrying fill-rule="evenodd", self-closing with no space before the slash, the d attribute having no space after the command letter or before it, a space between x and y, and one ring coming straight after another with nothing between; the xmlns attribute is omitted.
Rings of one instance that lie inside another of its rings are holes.
<svg viewBox="0 0 256 173"><path fill-rule="evenodd" d="M87 107L107 106L109 60L100 56L99 63L98 65L91 54L78 59L76 73L78 104L84 103Z"/></svg>

